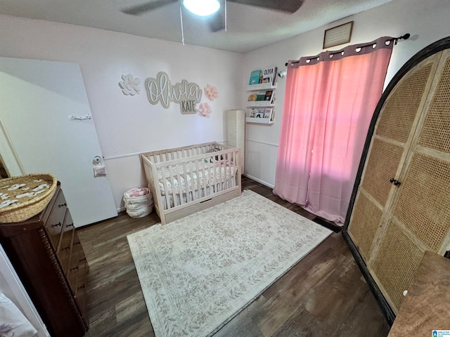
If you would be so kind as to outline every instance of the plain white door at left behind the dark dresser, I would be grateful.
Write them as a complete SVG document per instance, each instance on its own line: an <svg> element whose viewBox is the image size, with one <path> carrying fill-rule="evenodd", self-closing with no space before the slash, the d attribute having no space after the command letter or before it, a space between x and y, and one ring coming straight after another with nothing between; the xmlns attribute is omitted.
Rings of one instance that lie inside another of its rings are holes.
<svg viewBox="0 0 450 337"><path fill-rule="evenodd" d="M76 63L0 58L4 164L13 175L55 175L77 227L117 216L108 178L94 177L102 158L94 121L69 118L90 115Z"/></svg>

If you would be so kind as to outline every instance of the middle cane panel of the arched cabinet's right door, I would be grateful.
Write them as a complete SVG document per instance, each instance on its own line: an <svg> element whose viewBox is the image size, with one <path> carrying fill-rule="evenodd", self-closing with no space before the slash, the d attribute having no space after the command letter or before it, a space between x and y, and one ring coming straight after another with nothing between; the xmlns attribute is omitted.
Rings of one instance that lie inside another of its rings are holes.
<svg viewBox="0 0 450 337"><path fill-rule="evenodd" d="M414 154L393 215L437 252L450 230L450 163Z"/></svg>

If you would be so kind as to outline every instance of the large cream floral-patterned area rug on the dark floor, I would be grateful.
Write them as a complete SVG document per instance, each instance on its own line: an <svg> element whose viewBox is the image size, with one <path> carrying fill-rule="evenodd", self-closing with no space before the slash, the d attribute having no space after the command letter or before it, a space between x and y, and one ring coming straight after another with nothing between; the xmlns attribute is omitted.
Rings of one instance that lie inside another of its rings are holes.
<svg viewBox="0 0 450 337"><path fill-rule="evenodd" d="M156 337L211 336L330 230L250 190L128 235Z"/></svg>

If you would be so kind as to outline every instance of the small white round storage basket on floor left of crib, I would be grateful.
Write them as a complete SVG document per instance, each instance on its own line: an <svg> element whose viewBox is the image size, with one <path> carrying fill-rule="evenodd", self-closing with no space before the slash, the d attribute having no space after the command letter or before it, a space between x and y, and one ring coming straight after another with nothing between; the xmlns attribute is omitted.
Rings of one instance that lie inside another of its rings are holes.
<svg viewBox="0 0 450 337"><path fill-rule="evenodd" d="M131 218L143 218L153 211L153 196L147 187L134 187L124 192L124 204Z"/></svg>

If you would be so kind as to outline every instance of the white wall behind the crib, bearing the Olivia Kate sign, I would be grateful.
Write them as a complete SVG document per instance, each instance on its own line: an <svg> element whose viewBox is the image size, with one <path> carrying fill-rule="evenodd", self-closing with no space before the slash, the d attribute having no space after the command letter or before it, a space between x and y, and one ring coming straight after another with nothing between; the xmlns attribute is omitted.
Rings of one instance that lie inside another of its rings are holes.
<svg viewBox="0 0 450 337"><path fill-rule="evenodd" d="M117 208L123 206L123 192L144 184L136 153L223 142L226 110L242 107L243 55L238 53L6 15L0 15L0 32L0 56L80 65ZM202 89L217 86L219 98L207 101L210 118L181 114L174 103L169 109L151 105L143 81L158 72L166 72L172 84L186 79ZM141 79L139 95L122 93L122 74Z"/></svg>

